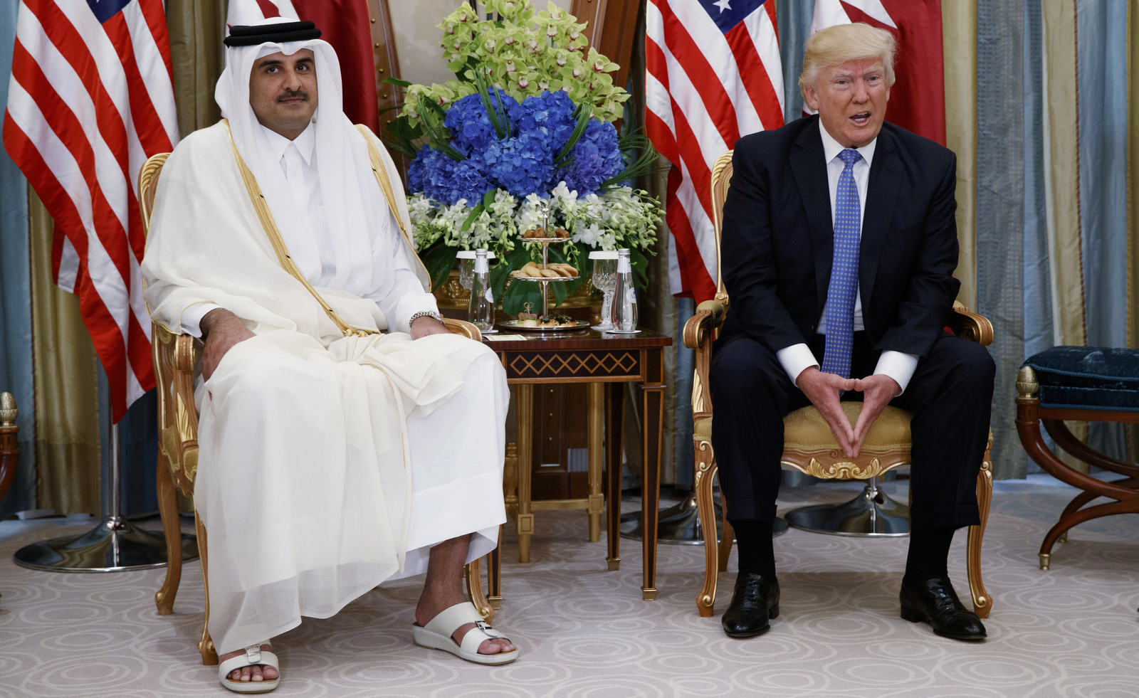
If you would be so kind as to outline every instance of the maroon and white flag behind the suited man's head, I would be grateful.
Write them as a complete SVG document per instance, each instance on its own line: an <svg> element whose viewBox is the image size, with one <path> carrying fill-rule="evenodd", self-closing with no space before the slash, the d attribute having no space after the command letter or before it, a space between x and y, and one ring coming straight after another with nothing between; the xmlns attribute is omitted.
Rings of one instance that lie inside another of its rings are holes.
<svg viewBox="0 0 1139 698"><path fill-rule="evenodd" d="M816 0L811 33L862 22L898 40L886 121L945 145L941 0Z"/></svg>

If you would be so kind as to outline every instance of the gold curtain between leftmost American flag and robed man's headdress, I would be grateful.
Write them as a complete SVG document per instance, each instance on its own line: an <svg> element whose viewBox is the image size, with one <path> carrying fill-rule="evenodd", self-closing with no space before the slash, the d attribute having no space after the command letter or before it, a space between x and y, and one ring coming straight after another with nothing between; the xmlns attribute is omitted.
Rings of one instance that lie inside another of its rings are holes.
<svg viewBox="0 0 1139 698"><path fill-rule="evenodd" d="M227 0L169 0L166 27L174 68L174 101L182 137L218 123L214 85L224 67Z"/></svg>

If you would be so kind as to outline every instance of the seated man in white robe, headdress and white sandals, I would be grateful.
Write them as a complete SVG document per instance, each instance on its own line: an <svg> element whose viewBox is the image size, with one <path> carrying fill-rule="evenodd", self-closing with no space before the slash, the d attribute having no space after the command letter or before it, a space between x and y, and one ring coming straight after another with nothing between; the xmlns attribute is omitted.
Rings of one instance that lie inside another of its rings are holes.
<svg viewBox="0 0 1139 698"><path fill-rule="evenodd" d="M314 36L280 18L232 27L227 121L166 162L141 268L154 320L205 343L195 503L237 691L276 688L268 640L301 616L424 572L417 643L517 655L461 589L506 520L506 376L440 321L398 173L344 116Z"/></svg>

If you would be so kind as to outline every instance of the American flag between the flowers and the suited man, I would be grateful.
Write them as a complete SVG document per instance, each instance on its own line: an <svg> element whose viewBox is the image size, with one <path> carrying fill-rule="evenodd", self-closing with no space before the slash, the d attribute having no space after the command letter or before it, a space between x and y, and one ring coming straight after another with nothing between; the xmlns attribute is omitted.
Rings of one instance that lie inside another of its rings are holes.
<svg viewBox="0 0 1139 698"><path fill-rule="evenodd" d="M712 165L740 136L782 125L775 0L648 0L645 130L672 163L672 293L715 295Z"/></svg>

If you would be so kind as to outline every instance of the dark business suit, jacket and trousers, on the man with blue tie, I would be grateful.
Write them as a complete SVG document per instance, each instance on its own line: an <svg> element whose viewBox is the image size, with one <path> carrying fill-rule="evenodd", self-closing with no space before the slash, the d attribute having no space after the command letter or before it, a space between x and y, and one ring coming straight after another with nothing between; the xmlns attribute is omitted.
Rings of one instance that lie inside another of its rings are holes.
<svg viewBox="0 0 1139 698"><path fill-rule="evenodd" d="M834 253L830 196L817 116L741 138L724 205L722 270L730 304L711 367L712 442L732 520L775 518L782 416L809 404L776 359L816 335ZM886 123L870 163L859 254L865 331L851 376L878 354L919 356L891 404L913 413L915 531L978 523L975 483L989 430L994 367L984 347L944 331L952 277L957 161ZM843 400L858 400L849 393Z"/></svg>

